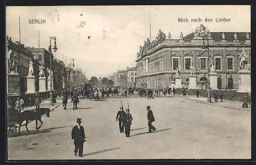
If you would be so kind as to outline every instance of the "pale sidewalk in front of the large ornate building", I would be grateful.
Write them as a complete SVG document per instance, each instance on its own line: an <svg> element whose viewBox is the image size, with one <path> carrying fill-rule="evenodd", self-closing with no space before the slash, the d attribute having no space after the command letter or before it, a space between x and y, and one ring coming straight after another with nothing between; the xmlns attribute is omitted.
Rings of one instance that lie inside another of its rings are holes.
<svg viewBox="0 0 256 165"><path fill-rule="evenodd" d="M208 104L208 105L212 105L212 106L219 106L219 107L224 107L224 108L231 108L231 109L237 109L237 110L241 110L241 111L251 111L251 105L249 105L248 108L242 108L242 102L240 101L231 101L231 100L223 100L223 102L220 102L220 99L218 99L218 102L207 102L207 98L206 97L187 97L188 99L192 99L192 100L197 100L200 103L203 104ZM211 101L214 101L211 99Z"/></svg>

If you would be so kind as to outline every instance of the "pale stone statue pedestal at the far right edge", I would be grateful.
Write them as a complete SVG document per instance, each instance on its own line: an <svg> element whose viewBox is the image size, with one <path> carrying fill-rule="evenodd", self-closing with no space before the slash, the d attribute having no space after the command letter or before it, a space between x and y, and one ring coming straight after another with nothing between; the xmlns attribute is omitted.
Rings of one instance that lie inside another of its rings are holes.
<svg viewBox="0 0 256 165"><path fill-rule="evenodd" d="M238 93L251 93L251 72L242 69L238 72Z"/></svg>

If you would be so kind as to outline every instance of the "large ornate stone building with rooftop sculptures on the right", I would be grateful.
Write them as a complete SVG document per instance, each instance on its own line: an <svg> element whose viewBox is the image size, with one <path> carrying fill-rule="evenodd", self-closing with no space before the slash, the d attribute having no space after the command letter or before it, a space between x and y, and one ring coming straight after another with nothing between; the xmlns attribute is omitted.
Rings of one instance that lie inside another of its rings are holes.
<svg viewBox="0 0 256 165"><path fill-rule="evenodd" d="M198 89L207 88L209 62L218 73L219 89L237 89L240 56L250 54L250 33L211 32L203 25L180 39L166 39L160 31L158 40L145 41L137 53L137 87L167 89L180 71L183 87L188 85L190 66L194 66ZM250 62L249 62L250 63Z"/></svg>

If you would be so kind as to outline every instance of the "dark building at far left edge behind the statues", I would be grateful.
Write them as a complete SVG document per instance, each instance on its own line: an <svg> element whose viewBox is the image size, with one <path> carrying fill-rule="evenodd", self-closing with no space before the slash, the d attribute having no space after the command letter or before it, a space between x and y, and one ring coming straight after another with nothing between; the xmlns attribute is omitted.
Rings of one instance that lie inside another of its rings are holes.
<svg viewBox="0 0 256 165"><path fill-rule="evenodd" d="M29 62L33 60L31 49L25 47L24 44L20 44L19 42L13 42L11 37L8 37L8 36L7 36L6 44L7 44L6 52L8 56L10 56L10 57L7 57L7 65L6 65L7 73L9 73L9 70L10 70L8 68L10 59L15 57L17 73L19 74L19 90L20 90L20 94L24 94L27 91L26 77L29 71ZM7 74L7 79L8 79L8 74ZM8 87L7 87L7 93L9 93Z"/></svg>

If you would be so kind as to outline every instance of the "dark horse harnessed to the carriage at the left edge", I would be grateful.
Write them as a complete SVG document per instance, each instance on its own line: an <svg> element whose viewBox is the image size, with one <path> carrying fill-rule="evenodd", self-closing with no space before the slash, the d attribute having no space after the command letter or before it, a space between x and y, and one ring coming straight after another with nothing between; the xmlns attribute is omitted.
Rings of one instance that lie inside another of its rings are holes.
<svg viewBox="0 0 256 165"><path fill-rule="evenodd" d="M19 121L19 128L18 128L18 133L20 134L20 127L22 126L22 123L26 121L26 129L27 132L29 133L28 129L28 122L35 120L35 128L38 131L41 126L42 126L42 115L46 115L48 118L50 117L50 108L49 107L41 107L34 109L33 111L27 110L24 112L21 112L18 114L18 121ZM39 121L41 124L39 127L37 127L37 121Z"/></svg>

